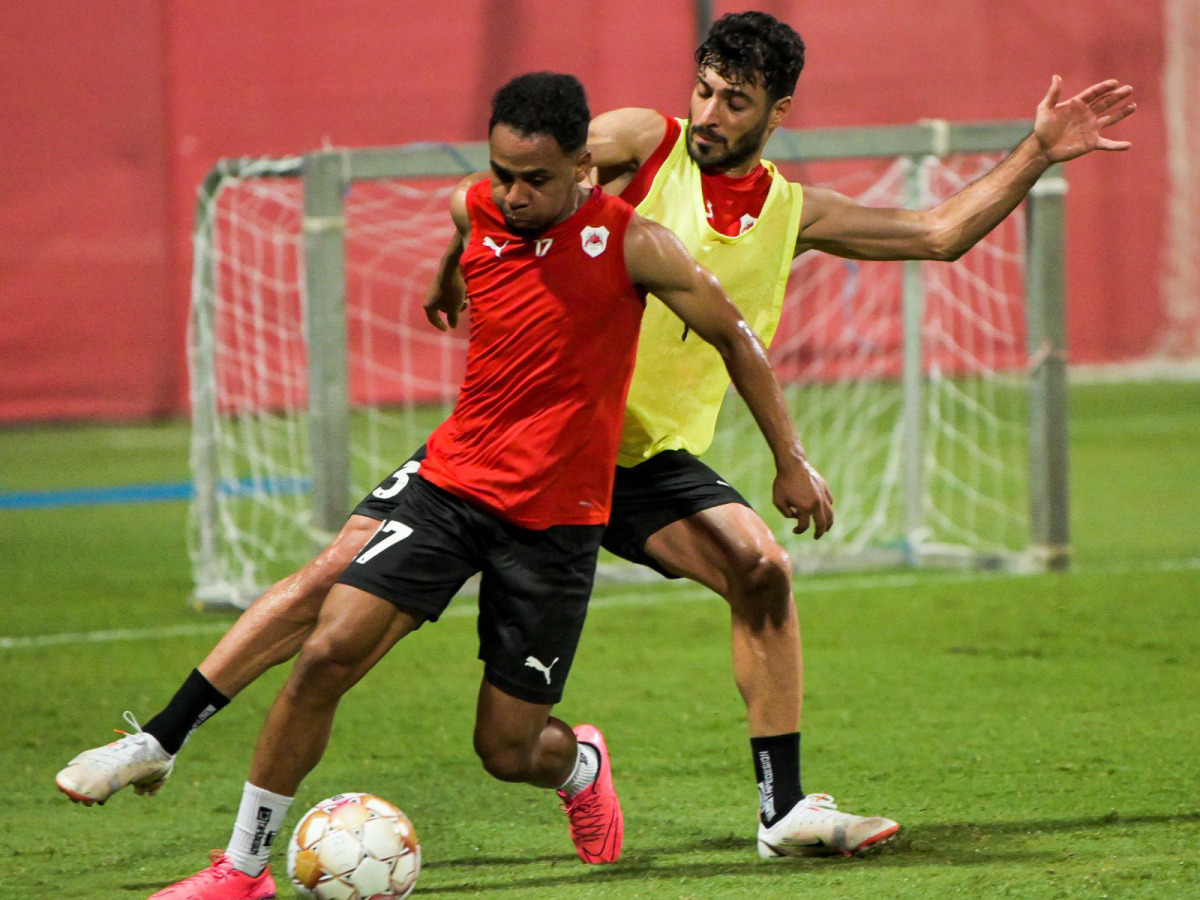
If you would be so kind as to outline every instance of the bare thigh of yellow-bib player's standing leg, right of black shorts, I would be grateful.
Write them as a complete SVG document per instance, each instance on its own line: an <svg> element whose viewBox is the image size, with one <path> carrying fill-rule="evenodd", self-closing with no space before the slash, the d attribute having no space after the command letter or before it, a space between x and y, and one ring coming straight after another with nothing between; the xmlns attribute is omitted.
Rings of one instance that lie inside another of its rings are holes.
<svg viewBox="0 0 1200 900"><path fill-rule="evenodd" d="M646 553L668 572L722 595L763 568L788 565L767 523L740 503L710 506L665 526L647 539Z"/></svg>

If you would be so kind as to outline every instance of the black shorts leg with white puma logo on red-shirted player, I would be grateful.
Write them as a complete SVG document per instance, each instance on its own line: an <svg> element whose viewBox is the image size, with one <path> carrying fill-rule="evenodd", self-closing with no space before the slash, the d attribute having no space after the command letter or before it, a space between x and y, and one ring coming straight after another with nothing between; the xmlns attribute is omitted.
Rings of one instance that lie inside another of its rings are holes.
<svg viewBox="0 0 1200 900"><path fill-rule="evenodd" d="M557 703L595 580L601 526L526 530L500 523L479 590L484 677L528 703Z"/></svg>

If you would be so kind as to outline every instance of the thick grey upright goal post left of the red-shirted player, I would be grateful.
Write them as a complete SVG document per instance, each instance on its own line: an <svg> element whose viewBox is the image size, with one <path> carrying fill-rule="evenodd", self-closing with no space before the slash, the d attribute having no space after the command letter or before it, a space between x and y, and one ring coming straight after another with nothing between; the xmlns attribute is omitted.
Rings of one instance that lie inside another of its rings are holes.
<svg viewBox="0 0 1200 900"><path fill-rule="evenodd" d="M340 152L304 161L308 325L308 434L313 524L336 533L350 502L350 396L346 329L346 190Z"/></svg>

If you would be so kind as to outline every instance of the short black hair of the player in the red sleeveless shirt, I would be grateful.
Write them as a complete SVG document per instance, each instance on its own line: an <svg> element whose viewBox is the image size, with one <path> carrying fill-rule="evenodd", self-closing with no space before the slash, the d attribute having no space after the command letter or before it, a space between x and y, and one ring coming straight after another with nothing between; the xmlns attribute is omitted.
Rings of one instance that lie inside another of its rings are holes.
<svg viewBox="0 0 1200 900"><path fill-rule="evenodd" d="M572 152L588 143L590 119L587 95L575 76L530 72L496 91L487 133L508 125L521 134L550 134L564 152Z"/></svg>

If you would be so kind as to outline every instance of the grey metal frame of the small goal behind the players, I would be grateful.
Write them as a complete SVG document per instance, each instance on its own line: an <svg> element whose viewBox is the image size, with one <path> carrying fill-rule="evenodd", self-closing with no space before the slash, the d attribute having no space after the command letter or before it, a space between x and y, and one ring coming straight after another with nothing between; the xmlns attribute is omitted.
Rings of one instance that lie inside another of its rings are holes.
<svg viewBox="0 0 1200 900"><path fill-rule="evenodd" d="M1030 133L1030 121L946 122L865 128L779 130L766 156L779 163L904 157L908 196L920 197L920 161L954 154L1007 151ZM347 278L344 198L361 180L425 179L462 175L487 168L487 144L416 144L380 149L320 150L278 160L223 160L205 179L196 221L196 265L190 340L192 383L192 554L202 606L245 606L253 598L224 583L220 564L222 490L217 452L220 427L214 346L212 220L209 210L232 179L302 180L304 296L310 385L312 526L326 534L344 523L356 496L350 484L350 398L347 353ZM1067 365L1063 296L1066 181L1052 168L1030 192L1026 206L1025 316L1028 352L1028 496L1030 544L1019 553L955 560L988 568L1062 569L1069 565L1067 439ZM922 534L923 413L920 323L925 286L920 263L904 264L905 349L902 368L902 472L905 534L910 552L884 564L937 564L936 548L916 552ZM398 449L407 450L407 449ZM398 460L397 460L398 462ZM379 473L382 476L383 472ZM313 548L316 550L316 547ZM258 586L259 588L265 586Z"/></svg>

